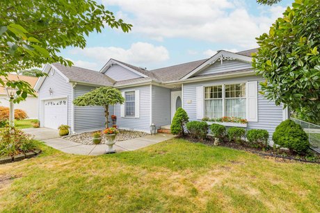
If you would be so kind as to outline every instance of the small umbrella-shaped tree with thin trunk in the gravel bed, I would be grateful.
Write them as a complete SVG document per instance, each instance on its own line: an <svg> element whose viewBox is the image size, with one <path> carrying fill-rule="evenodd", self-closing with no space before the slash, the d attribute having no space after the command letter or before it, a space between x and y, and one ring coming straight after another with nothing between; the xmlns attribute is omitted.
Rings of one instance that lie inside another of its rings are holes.
<svg viewBox="0 0 320 213"><path fill-rule="evenodd" d="M104 107L104 116L106 117L106 128L108 128L109 105L124 103L125 98L121 92L113 87L99 87L91 92L83 94L83 96L74 99L74 105L79 106L94 106L101 105Z"/></svg>

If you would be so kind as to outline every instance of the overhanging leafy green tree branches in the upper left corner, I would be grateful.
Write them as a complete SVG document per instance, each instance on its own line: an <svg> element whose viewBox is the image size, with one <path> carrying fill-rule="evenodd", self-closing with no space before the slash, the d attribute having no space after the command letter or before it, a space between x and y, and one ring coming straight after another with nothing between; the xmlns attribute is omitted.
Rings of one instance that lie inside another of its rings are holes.
<svg viewBox="0 0 320 213"><path fill-rule="evenodd" d="M67 46L84 48L86 36L104 26L131 30L131 25L115 19L112 12L93 0L3 0L0 1L0 76L60 62L72 65L59 55ZM37 73L36 76L43 74ZM33 94L22 80L0 80L0 84L17 88L22 101Z"/></svg>

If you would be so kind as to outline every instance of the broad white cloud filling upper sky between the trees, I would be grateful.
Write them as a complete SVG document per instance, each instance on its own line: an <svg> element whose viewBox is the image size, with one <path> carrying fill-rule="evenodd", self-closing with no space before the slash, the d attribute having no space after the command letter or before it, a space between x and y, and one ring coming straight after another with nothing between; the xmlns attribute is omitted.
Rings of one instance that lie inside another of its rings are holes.
<svg viewBox="0 0 320 213"><path fill-rule="evenodd" d="M237 0L104 0L119 6L119 17L141 33L161 41L164 37L187 37L209 42L227 42L243 48L256 47L255 37L285 10L271 6L257 16L250 15L246 4Z"/></svg>

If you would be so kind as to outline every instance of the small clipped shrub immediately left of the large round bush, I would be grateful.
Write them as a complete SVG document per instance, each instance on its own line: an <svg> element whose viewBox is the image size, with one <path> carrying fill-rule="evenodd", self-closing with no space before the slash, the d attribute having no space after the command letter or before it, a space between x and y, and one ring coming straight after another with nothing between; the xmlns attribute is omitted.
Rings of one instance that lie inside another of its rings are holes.
<svg viewBox="0 0 320 213"><path fill-rule="evenodd" d="M268 146L269 133L267 130L248 130L247 139L252 146L266 148Z"/></svg>

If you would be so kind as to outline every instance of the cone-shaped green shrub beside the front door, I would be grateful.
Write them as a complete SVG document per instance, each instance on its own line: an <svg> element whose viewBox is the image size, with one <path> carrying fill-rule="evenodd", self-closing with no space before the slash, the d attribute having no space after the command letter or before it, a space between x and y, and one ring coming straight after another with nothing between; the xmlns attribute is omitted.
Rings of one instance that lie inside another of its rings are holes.
<svg viewBox="0 0 320 213"><path fill-rule="evenodd" d="M178 108L171 123L171 133L173 135L184 135L184 125L186 125L188 121L189 117L188 114L186 114L186 111L182 108Z"/></svg>

